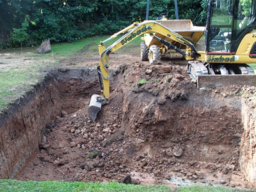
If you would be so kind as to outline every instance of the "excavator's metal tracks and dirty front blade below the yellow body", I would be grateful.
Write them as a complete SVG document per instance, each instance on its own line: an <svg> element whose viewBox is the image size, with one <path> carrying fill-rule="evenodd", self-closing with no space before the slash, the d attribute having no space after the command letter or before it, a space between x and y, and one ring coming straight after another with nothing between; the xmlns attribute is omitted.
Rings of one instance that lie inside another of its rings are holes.
<svg viewBox="0 0 256 192"><path fill-rule="evenodd" d="M200 61L189 61L188 74L197 88L256 86L254 71L246 64L209 65Z"/></svg>

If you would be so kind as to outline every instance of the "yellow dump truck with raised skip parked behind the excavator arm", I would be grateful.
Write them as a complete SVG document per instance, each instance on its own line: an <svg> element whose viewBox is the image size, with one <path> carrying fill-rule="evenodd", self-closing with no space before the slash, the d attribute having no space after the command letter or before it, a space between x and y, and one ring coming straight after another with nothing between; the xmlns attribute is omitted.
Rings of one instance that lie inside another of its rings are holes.
<svg viewBox="0 0 256 192"><path fill-rule="evenodd" d="M162 18L162 17L161 17ZM194 26L190 19L188 20L166 20L165 17L157 22L168 29L172 29L175 33L178 33L182 38L189 40L191 44L196 44L198 40L204 35L205 27ZM174 48L170 49L164 45L163 42L159 41L159 38L177 47L177 49L186 51L186 44L180 44L173 38L161 35L161 33L143 35L144 42L141 42L141 61L149 61L151 65L154 61L161 60L162 56L168 56L172 59L184 58L183 54L175 51Z"/></svg>

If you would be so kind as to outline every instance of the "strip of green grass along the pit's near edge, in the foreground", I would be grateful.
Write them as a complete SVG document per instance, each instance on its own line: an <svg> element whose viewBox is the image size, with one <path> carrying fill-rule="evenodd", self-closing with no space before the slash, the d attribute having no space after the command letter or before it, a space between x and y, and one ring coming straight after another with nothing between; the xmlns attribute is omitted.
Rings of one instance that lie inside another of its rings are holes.
<svg viewBox="0 0 256 192"><path fill-rule="evenodd" d="M165 185L132 185L118 182L61 182L61 181L19 181L0 180L0 191L4 192L255 192L251 189L227 188L221 186L180 186L172 189Z"/></svg>

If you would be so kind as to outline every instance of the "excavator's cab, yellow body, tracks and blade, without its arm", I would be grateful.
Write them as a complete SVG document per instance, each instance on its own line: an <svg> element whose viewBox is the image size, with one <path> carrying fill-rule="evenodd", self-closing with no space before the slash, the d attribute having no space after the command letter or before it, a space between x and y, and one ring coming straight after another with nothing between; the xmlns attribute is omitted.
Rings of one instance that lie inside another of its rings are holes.
<svg viewBox="0 0 256 192"><path fill-rule="evenodd" d="M255 86L256 0L209 0L205 55L189 61L188 73L198 88Z"/></svg>

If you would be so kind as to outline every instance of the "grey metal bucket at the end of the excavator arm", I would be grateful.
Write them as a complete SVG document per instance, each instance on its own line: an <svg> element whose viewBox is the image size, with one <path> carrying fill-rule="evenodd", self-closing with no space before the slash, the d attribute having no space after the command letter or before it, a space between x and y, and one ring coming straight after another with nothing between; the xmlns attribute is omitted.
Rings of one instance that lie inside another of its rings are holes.
<svg viewBox="0 0 256 192"><path fill-rule="evenodd" d="M97 113L101 110L101 106L106 103L106 99L102 95L92 95L88 113L92 117L93 121L95 121Z"/></svg>

